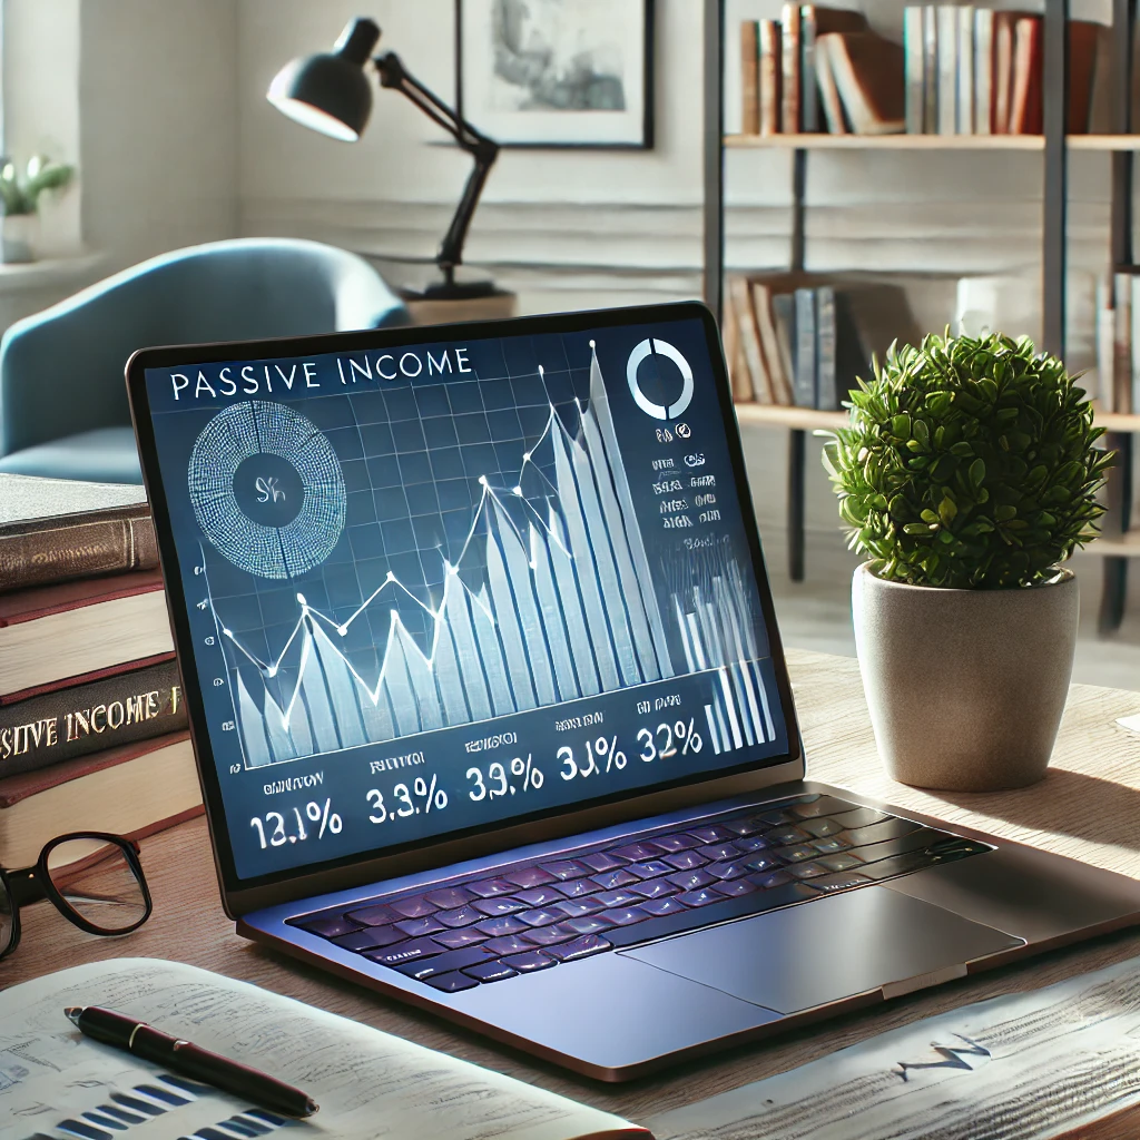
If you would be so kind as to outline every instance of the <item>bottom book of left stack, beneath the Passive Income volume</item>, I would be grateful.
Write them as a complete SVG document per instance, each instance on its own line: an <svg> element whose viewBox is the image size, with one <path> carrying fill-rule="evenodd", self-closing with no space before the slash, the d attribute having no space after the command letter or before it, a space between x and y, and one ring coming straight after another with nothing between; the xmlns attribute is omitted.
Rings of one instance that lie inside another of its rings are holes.
<svg viewBox="0 0 1140 1140"><path fill-rule="evenodd" d="M0 866L31 866L68 831L140 838L202 813L187 732L0 779Z"/></svg>

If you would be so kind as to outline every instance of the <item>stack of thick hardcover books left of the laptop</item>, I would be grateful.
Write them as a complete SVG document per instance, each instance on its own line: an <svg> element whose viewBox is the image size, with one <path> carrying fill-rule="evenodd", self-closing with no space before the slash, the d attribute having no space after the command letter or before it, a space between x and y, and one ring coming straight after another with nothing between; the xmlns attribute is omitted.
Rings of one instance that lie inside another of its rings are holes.
<svg viewBox="0 0 1140 1140"><path fill-rule="evenodd" d="M202 811L141 487L0 474L0 866Z"/></svg>

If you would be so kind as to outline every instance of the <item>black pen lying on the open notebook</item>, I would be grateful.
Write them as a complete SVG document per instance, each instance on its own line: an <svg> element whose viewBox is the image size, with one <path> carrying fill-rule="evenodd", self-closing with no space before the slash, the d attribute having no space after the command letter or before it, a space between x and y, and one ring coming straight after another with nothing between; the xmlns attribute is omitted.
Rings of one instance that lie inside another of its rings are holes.
<svg viewBox="0 0 1140 1140"><path fill-rule="evenodd" d="M65 1009L64 1013L80 1033L95 1041L154 1061L181 1076L212 1084L243 1100L252 1100L261 1108L294 1117L311 1116L317 1110L317 1102L300 1089L188 1041L160 1033L133 1017L98 1005Z"/></svg>

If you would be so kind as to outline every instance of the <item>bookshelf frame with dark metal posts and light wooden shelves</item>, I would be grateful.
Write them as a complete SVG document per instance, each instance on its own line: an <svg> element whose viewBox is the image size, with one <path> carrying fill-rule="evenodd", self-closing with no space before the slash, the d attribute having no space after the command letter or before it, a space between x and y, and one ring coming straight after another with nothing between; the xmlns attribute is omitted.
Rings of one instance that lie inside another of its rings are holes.
<svg viewBox="0 0 1140 1140"><path fill-rule="evenodd" d="M1114 34L1113 133L1110 135L1065 133L1068 72L1066 24L1069 18L1069 2L1044 0L1042 135L726 136L724 131L725 0L703 0L703 295L706 303L718 318L724 296L724 156L728 149L768 148L791 154L792 204L787 268L793 271L804 270L806 262L808 156L814 152L1024 150L1040 154L1044 206L1041 231L1042 348L1061 358L1065 357L1069 152L1096 152L1112 156L1109 263L1115 268L1135 266L1132 241L1132 176L1134 153L1140 150L1140 133L1132 133L1130 91L1137 0L1112 0ZM805 570L806 435L808 431L821 427L841 426L845 414L771 405L738 405L736 415L742 424L766 424L788 430L788 570L793 581L801 581ZM1106 446L1117 453L1117 466L1110 472L1108 486L1109 511L1104 520L1104 537L1090 547L1092 553L1102 556L1104 589L1099 620L1101 630L1108 633L1118 628L1124 617L1129 560L1140 557L1140 531L1131 530L1133 441L1134 437L1140 434L1140 414L1098 413L1097 422L1108 429Z"/></svg>

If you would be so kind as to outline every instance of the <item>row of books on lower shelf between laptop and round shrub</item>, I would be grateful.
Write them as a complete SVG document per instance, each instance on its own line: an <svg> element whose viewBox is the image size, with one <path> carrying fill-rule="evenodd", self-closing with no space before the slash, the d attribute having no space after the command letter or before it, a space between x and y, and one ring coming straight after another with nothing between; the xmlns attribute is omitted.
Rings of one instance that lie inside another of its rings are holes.
<svg viewBox="0 0 1140 1140"><path fill-rule="evenodd" d="M722 332L738 402L838 410L891 341L917 343L905 291L858 278L728 278Z"/></svg>

